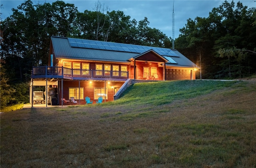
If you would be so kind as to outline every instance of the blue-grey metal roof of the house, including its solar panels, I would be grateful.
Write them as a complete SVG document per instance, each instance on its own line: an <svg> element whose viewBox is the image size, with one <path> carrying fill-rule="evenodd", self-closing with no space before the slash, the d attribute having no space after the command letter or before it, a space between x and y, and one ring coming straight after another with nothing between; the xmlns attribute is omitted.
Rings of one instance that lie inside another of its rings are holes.
<svg viewBox="0 0 256 168"><path fill-rule="evenodd" d="M130 58L135 58L144 52L154 50L154 52L162 56L164 60L168 60L168 62L166 62L166 66L199 68L177 50L171 50L168 48L101 42L58 36L52 36L51 41L56 58L130 62Z"/></svg>

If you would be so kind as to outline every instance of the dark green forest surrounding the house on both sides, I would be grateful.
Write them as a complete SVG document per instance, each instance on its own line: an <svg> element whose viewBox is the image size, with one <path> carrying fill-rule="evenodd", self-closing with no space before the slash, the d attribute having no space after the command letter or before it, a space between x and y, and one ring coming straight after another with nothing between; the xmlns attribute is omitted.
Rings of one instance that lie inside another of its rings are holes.
<svg viewBox="0 0 256 168"><path fill-rule="evenodd" d="M99 1L78 12L74 4L25 1L1 19L1 107L27 103L32 66L48 64L51 36L171 48L172 38L148 19L109 11ZM208 18L188 18L175 48L201 67L197 78L234 79L256 74L256 8L225 1Z"/></svg>

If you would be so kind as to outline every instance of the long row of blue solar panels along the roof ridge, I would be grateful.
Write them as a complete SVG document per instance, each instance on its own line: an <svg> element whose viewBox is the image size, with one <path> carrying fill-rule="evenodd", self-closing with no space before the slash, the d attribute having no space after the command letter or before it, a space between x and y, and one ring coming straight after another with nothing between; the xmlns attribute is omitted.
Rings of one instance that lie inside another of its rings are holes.
<svg viewBox="0 0 256 168"><path fill-rule="evenodd" d="M133 52L133 53L143 53L152 49L161 56L178 57L178 55L175 52L173 52L171 49L168 49L168 48L138 46L134 44L102 42L102 41L84 40L84 39L76 39L76 38L68 38L68 41L71 47L77 47L77 48L90 48L90 49Z"/></svg>

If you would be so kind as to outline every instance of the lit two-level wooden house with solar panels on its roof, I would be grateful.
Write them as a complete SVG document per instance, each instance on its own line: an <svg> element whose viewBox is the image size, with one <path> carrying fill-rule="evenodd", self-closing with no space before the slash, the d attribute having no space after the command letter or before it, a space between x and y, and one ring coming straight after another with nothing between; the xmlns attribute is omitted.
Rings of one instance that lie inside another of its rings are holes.
<svg viewBox="0 0 256 168"><path fill-rule="evenodd" d="M168 48L52 36L48 66L33 67L30 93L33 86L46 86L46 106L54 96L56 104L72 97L86 104L87 96L107 102L128 79L192 80L198 68Z"/></svg>

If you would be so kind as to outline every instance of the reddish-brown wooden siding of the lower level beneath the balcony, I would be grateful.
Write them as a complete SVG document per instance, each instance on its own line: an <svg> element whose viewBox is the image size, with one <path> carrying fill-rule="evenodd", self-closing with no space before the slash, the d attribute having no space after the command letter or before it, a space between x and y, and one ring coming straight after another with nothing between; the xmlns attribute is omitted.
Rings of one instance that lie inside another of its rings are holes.
<svg viewBox="0 0 256 168"><path fill-rule="evenodd" d="M90 97L91 101L93 101L93 104L96 103L96 100L94 99L94 88L105 88L105 81L80 81L80 88L84 88L84 98L86 96ZM108 88L108 99L106 102L113 101L114 100L114 88L120 88L124 84L124 82L114 82L114 81L106 81L106 88ZM79 81L63 81L63 98L66 100L69 99L69 88L70 87L79 87ZM59 97L59 104L61 105L61 82L60 82L60 97ZM80 104L86 104L85 100L80 99ZM79 102L79 100L76 100ZM103 100L105 102L105 100ZM65 103L66 104L66 103Z"/></svg>

